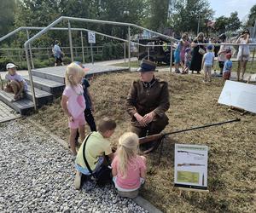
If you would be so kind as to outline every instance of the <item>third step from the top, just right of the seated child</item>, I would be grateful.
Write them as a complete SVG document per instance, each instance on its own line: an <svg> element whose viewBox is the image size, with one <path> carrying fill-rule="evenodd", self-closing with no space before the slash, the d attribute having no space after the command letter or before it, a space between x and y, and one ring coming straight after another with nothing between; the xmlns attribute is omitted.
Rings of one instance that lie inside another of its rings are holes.
<svg viewBox="0 0 256 213"><path fill-rule="evenodd" d="M53 95L44 90L35 88L36 102L38 107L42 107L44 104L51 103L53 101ZM30 85L27 85L26 97L32 101L32 89Z"/></svg>

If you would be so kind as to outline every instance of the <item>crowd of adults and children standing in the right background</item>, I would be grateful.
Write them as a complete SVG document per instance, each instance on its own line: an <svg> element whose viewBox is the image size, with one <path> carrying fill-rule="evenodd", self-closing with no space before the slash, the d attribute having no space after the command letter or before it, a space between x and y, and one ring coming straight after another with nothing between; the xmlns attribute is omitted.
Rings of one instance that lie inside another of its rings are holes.
<svg viewBox="0 0 256 213"><path fill-rule="evenodd" d="M203 70L205 72L204 81L209 82L211 81L214 60L217 58L220 72L217 75L216 69L214 69L213 75L230 79L230 74L224 75L224 72L231 72L232 64L230 63L230 58L232 55L235 56L235 51L232 51L232 46L226 44L226 38L225 34L221 34L218 37L207 38L204 36L203 32L200 32L197 37L192 40L189 39L188 32L184 32L181 39L177 42L174 51L175 72L187 74L189 70L192 73L201 73ZM236 43L242 44L239 45L237 53L237 81L240 81L244 78L247 61L250 57L250 49L249 45L247 45L247 43L250 43L250 32L248 30L243 31L241 35L237 37ZM236 46L234 49L236 50ZM228 63L229 66L224 66L226 61L230 61ZM180 67L182 70L180 70Z"/></svg>

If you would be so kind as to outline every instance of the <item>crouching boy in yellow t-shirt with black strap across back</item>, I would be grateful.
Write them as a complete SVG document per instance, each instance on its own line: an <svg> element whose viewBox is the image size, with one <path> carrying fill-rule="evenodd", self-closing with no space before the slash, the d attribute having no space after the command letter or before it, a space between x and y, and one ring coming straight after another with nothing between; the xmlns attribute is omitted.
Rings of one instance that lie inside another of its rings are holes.
<svg viewBox="0 0 256 213"><path fill-rule="evenodd" d="M102 169L102 164L104 163L105 156L107 156L111 161L113 160L112 147L110 145L110 141L108 141L108 138L113 135L115 128L116 123L112 119L102 118L97 127L98 131L94 131L90 135L87 135L84 155L90 166L90 170L92 170L92 173L96 173ZM88 170L84 162L84 142L79 148L79 153L75 160L75 167L77 169L77 172L75 176L74 186L76 189L79 189L81 187L83 175L91 175L90 170Z"/></svg>

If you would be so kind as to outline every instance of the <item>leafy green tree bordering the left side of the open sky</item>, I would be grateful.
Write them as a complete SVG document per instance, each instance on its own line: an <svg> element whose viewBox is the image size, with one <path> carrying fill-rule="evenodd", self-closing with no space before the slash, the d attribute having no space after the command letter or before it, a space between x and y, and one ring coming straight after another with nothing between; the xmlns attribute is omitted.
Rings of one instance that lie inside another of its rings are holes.
<svg viewBox="0 0 256 213"><path fill-rule="evenodd" d="M197 32L199 22L200 31L206 31L206 20L211 20L212 9L207 0L180 0L174 4L174 11L169 23L175 32Z"/></svg>

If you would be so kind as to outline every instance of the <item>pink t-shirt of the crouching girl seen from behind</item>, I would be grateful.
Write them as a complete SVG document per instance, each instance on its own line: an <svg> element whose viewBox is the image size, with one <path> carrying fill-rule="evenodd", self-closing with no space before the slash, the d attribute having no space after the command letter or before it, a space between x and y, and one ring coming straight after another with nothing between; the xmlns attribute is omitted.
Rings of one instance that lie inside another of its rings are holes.
<svg viewBox="0 0 256 213"><path fill-rule="evenodd" d="M141 173L146 170L146 164L142 156L132 158L128 163L126 176L123 177L119 172L119 158L115 156L111 164L112 168L117 170L116 184L125 189L133 189L140 187Z"/></svg>

